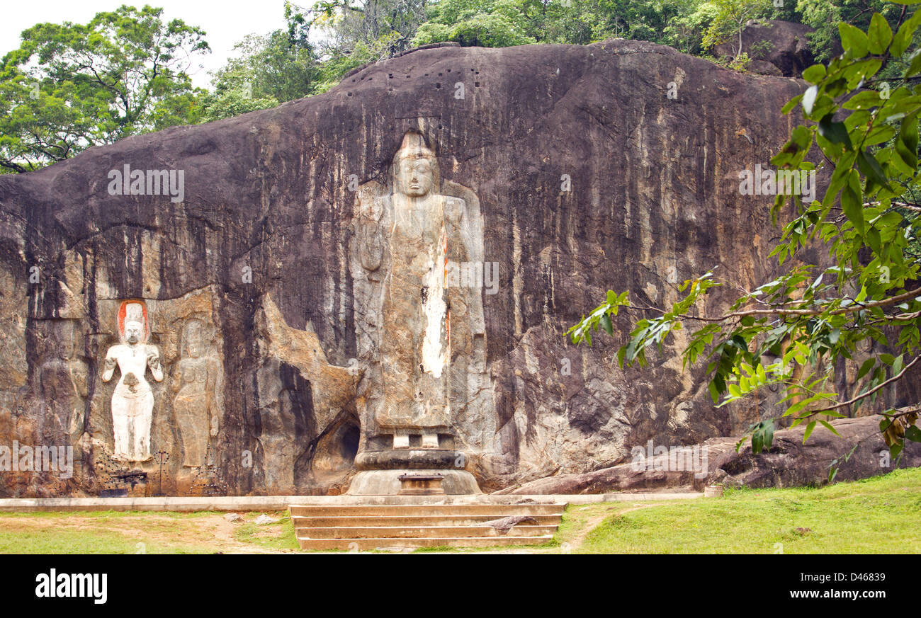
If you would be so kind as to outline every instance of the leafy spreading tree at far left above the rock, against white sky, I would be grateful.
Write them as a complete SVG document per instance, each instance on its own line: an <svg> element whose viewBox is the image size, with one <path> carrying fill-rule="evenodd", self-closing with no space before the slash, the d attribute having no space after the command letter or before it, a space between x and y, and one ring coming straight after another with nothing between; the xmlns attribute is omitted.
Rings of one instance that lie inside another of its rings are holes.
<svg viewBox="0 0 921 618"><path fill-rule="evenodd" d="M0 66L0 166L22 172L87 147L198 120L187 73L201 29L145 6L86 25L38 24Z"/></svg>

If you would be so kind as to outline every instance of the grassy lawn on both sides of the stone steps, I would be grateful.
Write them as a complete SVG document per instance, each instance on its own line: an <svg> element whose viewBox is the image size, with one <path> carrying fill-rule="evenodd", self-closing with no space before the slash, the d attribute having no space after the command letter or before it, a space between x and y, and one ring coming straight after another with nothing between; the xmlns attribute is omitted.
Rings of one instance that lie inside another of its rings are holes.
<svg viewBox="0 0 921 618"><path fill-rule="evenodd" d="M723 498L570 505L550 544L431 552L532 554L919 553L921 468L821 488L736 489ZM223 512L0 513L2 554L297 552L285 511L257 525Z"/></svg>

